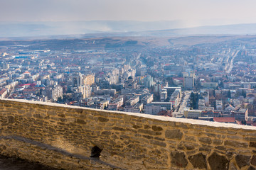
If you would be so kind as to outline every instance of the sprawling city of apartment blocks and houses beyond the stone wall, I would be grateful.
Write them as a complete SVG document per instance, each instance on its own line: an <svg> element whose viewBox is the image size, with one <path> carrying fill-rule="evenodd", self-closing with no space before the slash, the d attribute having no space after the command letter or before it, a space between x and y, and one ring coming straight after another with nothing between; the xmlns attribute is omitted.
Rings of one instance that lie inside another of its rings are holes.
<svg viewBox="0 0 256 170"><path fill-rule="evenodd" d="M1 98L256 125L252 35L12 40L0 47Z"/></svg>

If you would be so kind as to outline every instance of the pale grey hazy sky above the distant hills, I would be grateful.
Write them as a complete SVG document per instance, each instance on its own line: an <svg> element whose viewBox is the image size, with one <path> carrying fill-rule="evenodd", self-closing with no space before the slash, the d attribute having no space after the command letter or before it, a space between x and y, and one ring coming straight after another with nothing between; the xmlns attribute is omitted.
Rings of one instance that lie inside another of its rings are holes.
<svg viewBox="0 0 256 170"><path fill-rule="evenodd" d="M256 23L255 0L0 0L0 21Z"/></svg>

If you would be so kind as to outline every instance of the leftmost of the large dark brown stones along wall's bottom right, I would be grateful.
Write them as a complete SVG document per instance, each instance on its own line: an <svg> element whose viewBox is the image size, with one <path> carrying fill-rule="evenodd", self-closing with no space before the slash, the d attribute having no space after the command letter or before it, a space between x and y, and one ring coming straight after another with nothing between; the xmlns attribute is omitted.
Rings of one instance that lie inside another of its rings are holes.
<svg viewBox="0 0 256 170"><path fill-rule="evenodd" d="M174 151L171 152L171 165L179 168L185 168L188 164L184 152Z"/></svg>

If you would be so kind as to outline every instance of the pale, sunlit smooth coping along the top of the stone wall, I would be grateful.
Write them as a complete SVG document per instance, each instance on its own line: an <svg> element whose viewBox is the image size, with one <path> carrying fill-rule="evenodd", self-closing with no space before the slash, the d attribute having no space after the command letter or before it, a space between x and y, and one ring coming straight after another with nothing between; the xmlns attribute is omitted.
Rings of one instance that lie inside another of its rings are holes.
<svg viewBox="0 0 256 170"><path fill-rule="evenodd" d="M176 123L188 123L192 125L206 125L209 127L216 127L216 128L234 128L234 129L243 129L243 130L256 130L256 127L254 126L248 126L248 125L236 125L233 123L217 123L217 122L210 122L206 120L195 120L195 119L187 119L187 118L171 118L166 116L159 116L159 115L148 115L144 113L129 113L129 112L120 112L120 111L106 111L106 110L100 110L95 108L84 108L80 106L69 106L64 105L60 103L48 103L48 102L41 102L41 101L27 101L23 99L8 99L8 98L1 98L0 101L16 101L18 103L31 103L36 105L44 105L44 106L55 106L55 107L61 107L61 108L79 108L82 110L87 111L100 111L105 113L115 113L115 114L122 114L122 115L134 115L137 117L142 118L149 118L154 120L162 120L162 121L170 121L170 122L176 122Z"/></svg>

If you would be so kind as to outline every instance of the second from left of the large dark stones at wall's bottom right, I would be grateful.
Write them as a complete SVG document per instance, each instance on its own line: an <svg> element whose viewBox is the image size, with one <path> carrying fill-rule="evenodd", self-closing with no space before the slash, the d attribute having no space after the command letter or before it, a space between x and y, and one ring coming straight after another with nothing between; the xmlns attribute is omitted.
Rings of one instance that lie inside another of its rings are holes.
<svg viewBox="0 0 256 170"><path fill-rule="evenodd" d="M191 162L191 164L193 164L194 168L198 168L198 169L206 169L207 165L206 165L206 155L204 155L203 153L198 153L192 156L188 157L189 162Z"/></svg>

